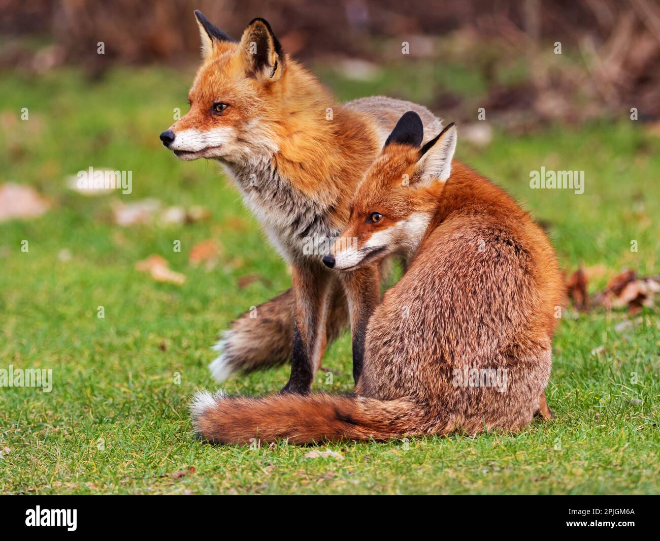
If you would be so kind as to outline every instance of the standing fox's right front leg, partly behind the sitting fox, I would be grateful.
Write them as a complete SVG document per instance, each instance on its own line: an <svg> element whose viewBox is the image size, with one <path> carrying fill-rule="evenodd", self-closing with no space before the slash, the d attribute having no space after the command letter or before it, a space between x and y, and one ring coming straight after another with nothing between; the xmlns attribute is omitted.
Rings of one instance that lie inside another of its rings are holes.
<svg viewBox="0 0 660 541"><path fill-rule="evenodd" d="M353 345L353 379L357 383L362 373L367 324L380 299L380 269L377 265L368 265L352 272L341 273L341 281L348 299Z"/></svg>

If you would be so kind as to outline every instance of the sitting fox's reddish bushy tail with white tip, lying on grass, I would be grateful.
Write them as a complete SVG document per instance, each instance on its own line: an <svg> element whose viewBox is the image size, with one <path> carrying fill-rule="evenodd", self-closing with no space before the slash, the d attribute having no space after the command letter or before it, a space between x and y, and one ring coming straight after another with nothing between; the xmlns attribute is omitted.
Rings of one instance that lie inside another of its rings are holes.
<svg viewBox="0 0 660 541"><path fill-rule="evenodd" d="M375 400L336 394L228 397L199 391L191 404L195 429L213 443L251 439L290 443L387 440L421 433L421 412L407 400Z"/></svg>

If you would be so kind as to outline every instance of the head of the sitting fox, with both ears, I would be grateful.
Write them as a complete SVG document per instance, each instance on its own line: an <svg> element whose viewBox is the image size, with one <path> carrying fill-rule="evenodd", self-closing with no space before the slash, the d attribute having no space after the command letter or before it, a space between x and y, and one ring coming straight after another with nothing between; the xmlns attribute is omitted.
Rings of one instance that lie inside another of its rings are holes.
<svg viewBox="0 0 660 541"><path fill-rule="evenodd" d="M352 271L388 254L416 252L451 174L456 126L420 147L423 137L418 114L404 114L358 186L348 225L323 257L326 266Z"/></svg>

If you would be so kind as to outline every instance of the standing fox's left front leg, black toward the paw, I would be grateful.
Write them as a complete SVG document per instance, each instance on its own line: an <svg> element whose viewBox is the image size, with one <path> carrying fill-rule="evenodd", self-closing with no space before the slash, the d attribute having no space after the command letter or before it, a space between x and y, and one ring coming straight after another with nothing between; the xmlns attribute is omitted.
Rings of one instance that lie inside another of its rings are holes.
<svg viewBox="0 0 660 541"><path fill-rule="evenodd" d="M325 351L326 318L333 277L321 266L293 270L295 319L291 377L282 392L308 394Z"/></svg>

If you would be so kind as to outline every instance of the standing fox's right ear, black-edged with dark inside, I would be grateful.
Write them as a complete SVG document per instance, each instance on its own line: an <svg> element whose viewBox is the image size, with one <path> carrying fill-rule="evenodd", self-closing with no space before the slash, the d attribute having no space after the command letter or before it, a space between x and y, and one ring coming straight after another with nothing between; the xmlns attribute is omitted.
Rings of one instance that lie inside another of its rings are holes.
<svg viewBox="0 0 660 541"><path fill-rule="evenodd" d="M278 81L284 71L284 53L267 20L253 19L240 44L248 76L263 82Z"/></svg>

